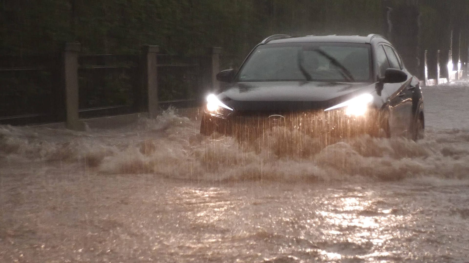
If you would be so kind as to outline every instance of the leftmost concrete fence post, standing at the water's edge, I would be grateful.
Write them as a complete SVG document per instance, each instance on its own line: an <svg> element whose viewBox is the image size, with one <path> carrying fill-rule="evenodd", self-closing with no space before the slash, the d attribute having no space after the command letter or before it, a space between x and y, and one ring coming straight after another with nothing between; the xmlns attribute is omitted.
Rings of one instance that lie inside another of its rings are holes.
<svg viewBox="0 0 469 263"><path fill-rule="evenodd" d="M83 131L85 126L78 115L78 54L80 43L66 43L63 53L63 73L65 84L65 109L67 112L66 125L70 130Z"/></svg>

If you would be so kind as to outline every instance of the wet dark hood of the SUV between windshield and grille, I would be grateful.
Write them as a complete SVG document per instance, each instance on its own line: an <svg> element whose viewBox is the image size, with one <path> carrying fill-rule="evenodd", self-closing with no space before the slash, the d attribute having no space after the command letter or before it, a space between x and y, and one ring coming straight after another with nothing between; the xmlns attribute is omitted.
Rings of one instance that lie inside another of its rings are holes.
<svg viewBox="0 0 469 263"><path fill-rule="evenodd" d="M329 108L375 89L374 83L242 82L217 96L234 110L294 111Z"/></svg>

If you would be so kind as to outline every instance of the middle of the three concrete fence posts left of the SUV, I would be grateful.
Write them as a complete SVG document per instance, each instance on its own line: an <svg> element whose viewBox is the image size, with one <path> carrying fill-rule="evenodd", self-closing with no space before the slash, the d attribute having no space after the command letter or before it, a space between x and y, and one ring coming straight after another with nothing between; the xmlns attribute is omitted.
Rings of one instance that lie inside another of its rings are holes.
<svg viewBox="0 0 469 263"><path fill-rule="evenodd" d="M145 90L148 94L148 116L158 116L158 58L159 46L144 46Z"/></svg>

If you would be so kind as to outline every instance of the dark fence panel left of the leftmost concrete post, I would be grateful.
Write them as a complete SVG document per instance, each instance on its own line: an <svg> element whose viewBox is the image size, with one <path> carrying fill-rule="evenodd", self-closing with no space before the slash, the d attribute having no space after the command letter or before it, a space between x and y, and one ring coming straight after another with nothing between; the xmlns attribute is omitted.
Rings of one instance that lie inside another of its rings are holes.
<svg viewBox="0 0 469 263"><path fill-rule="evenodd" d="M63 121L59 56L0 57L0 124Z"/></svg>

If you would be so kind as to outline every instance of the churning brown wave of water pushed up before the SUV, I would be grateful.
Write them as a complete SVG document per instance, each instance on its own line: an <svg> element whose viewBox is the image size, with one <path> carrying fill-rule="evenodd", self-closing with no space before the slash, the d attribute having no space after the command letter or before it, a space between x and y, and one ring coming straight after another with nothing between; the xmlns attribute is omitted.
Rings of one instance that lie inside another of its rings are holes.
<svg viewBox="0 0 469 263"><path fill-rule="evenodd" d="M428 129L423 140L362 136L326 147L280 128L254 143L198 134L199 122L166 111L115 130L0 126L0 162L84 162L96 173L190 180L400 180L468 178L469 131Z"/></svg>

